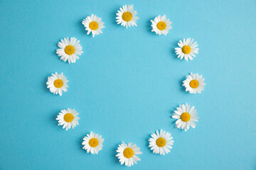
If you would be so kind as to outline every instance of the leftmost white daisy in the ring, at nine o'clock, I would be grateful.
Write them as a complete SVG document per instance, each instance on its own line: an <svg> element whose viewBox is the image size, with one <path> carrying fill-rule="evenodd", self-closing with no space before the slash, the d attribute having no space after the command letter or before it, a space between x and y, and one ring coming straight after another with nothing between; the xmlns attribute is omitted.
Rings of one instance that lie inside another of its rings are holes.
<svg viewBox="0 0 256 170"><path fill-rule="evenodd" d="M53 94L59 94L62 95L63 91L68 91L68 80L63 75L63 72L61 74L58 74L55 72L55 74L52 74L51 77L48 77L48 81L46 84L48 85L47 88L50 89L50 92Z"/></svg>

